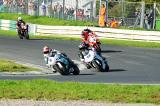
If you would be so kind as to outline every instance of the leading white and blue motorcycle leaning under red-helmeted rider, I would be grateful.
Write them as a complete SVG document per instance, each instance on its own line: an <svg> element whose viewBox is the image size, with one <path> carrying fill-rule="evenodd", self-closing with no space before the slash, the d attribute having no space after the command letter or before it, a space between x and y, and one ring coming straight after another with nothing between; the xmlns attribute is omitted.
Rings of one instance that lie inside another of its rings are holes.
<svg viewBox="0 0 160 106"><path fill-rule="evenodd" d="M80 73L77 65L63 54L56 54L54 57L44 59L47 59L45 60L48 62L46 65L50 67L53 72L59 72L61 75L69 75L70 73L79 75Z"/></svg>

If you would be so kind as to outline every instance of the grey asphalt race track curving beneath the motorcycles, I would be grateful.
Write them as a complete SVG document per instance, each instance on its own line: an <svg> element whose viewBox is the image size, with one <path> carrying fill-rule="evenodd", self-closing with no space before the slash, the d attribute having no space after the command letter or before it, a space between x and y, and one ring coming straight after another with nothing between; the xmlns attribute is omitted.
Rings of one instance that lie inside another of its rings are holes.
<svg viewBox="0 0 160 106"><path fill-rule="evenodd" d="M72 60L81 63L78 58L80 41L65 40L20 40L0 37L0 58L13 59L45 67L42 48L49 45L65 52ZM102 55L107 58L109 72L96 72L94 69L82 69L80 75L62 76L60 74L43 75L3 75L0 79L51 79L56 81L78 81L93 83L124 84L160 84L160 49L120 47L101 45Z"/></svg>

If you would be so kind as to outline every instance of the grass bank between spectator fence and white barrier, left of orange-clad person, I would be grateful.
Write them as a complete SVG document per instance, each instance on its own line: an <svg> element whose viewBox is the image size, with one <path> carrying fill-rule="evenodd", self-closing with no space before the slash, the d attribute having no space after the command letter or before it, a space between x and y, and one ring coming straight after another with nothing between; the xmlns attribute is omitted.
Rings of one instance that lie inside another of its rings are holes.
<svg viewBox="0 0 160 106"><path fill-rule="evenodd" d="M0 13L0 19L17 20L21 16L27 23L42 25L60 25L60 26L95 26L95 22L63 20L58 18L49 18L44 16L29 16L25 14Z"/></svg>

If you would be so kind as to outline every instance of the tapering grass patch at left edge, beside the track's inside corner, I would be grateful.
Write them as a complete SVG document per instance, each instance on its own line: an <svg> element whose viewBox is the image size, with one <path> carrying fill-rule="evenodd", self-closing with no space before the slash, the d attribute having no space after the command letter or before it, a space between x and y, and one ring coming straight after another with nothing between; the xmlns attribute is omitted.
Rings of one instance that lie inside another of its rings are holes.
<svg viewBox="0 0 160 106"><path fill-rule="evenodd" d="M0 59L0 72L27 72L27 71L37 71L36 68L31 68L21 64L17 64L10 60Z"/></svg>

